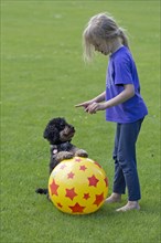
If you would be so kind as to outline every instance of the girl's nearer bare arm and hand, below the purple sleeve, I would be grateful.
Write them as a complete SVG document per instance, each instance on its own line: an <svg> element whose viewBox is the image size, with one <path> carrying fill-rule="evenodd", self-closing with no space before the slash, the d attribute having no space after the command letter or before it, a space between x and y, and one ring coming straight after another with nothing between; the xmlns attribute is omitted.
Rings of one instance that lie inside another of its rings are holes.
<svg viewBox="0 0 161 243"><path fill-rule="evenodd" d="M94 102L86 108L86 112L89 114L95 114L97 110L104 110L128 101L135 95L135 86L132 84L126 84L124 87L125 89L116 97L100 104Z"/></svg>

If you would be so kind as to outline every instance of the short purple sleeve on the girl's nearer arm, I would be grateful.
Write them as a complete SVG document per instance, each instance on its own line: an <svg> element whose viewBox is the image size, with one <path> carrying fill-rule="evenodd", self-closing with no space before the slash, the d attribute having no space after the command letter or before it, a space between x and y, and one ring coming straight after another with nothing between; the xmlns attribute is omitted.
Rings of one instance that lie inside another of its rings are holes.
<svg viewBox="0 0 161 243"><path fill-rule="evenodd" d="M114 70L116 85L133 84L130 59L117 59L114 63Z"/></svg>

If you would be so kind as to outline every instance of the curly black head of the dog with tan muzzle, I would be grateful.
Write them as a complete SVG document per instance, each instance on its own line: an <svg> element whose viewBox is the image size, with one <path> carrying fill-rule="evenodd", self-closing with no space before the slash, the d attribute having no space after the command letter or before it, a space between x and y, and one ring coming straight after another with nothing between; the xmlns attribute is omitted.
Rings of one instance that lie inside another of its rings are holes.
<svg viewBox="0 0 161 243"><path fill-rule="evenodd" d="M74 126L67 124L64 118L57 117L49 122L43 136L51 145L56 145L71 141L74 134Z"/></svg>

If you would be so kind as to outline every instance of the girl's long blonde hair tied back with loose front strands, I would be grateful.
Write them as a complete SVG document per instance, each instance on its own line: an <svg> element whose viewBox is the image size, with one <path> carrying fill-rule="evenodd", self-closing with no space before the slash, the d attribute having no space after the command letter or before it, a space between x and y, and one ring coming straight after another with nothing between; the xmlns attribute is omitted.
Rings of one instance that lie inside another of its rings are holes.
<svg viewBox="0 0 161 243"><path fill-rule="evenodd" d="M98 13L92 17L83 32L84 60L90 61L94 54L94 43L96 40L111 40L120 38L125 46L129 49L128 38L125 30L116 23L115 19L107 13Z"/></svg>

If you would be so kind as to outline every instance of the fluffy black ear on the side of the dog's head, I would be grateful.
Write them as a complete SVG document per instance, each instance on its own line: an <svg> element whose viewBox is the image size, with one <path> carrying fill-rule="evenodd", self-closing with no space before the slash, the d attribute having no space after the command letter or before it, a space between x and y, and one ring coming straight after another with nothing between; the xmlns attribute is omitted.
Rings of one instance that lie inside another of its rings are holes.
<svg viewBox="0 0 161 243"><path fill-rule="evenodd" d="M43 137L47 139L51 145L54 145L58 141L60 133L56 127L49 125L44 130Z"/></svg>

